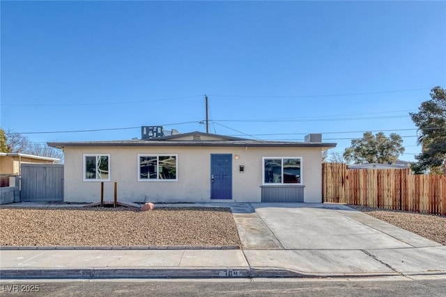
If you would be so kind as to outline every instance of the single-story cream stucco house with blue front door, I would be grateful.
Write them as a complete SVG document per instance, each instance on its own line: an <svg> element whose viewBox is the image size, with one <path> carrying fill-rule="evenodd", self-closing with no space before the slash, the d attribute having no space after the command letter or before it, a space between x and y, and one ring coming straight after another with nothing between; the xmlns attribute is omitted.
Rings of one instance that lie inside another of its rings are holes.
<svg viewBox="0 0 446 297"><path fill-rule="evenodd" d="M322 202L321 134L305 142L192 132L132 141L48 143L63 149L64 201Z"/></svg>

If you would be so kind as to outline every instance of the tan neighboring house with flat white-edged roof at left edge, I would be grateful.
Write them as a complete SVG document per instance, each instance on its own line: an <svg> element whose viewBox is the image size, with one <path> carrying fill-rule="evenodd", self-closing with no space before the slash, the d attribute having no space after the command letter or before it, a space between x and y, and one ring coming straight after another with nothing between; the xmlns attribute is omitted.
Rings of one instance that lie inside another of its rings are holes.
<svg viewBox="0 0 446 297"><path fill-rule="evenodd" d="M47 156L0 152L0 173L3 175L20 175L20 165L23 163L54 164L57 161L59 159Z"/></svg>

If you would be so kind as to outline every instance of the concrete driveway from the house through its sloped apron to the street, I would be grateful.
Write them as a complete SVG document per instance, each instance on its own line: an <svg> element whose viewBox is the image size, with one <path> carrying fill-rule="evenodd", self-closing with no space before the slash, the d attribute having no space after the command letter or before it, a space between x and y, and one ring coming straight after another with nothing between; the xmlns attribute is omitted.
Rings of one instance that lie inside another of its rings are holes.
<svg viewBox="0 0 446 297"><path fill-rule="evenodd" d="M233 216L253 268L317 275L446 272L446 246L344 205L249 205Z"/></svg>

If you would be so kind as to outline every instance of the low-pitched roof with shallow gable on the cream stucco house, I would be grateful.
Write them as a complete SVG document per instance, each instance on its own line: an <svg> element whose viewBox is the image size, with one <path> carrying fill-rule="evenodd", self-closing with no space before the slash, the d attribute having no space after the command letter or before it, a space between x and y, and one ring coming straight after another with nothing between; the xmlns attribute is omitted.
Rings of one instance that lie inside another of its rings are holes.
<svg viewBox="0 0 446 297"><path fill-rule="evenodd" d="M336 147L336 143L288 142L288 141L258 141L248 138L238 138L219 134L209 134L194 131L157 138L131 141L75 141L51 142L50 147Z"/></svg>

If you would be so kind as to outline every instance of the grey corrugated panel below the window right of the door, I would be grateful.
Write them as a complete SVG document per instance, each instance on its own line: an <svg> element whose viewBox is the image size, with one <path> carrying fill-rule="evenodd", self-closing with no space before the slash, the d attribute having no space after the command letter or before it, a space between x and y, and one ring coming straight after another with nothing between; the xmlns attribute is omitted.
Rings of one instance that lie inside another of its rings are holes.
<svg viewBox="0 0 446 297"><path fill-rule="evenodd" d="M304 186L261 186L262 202L304 202Z"/></svg>

